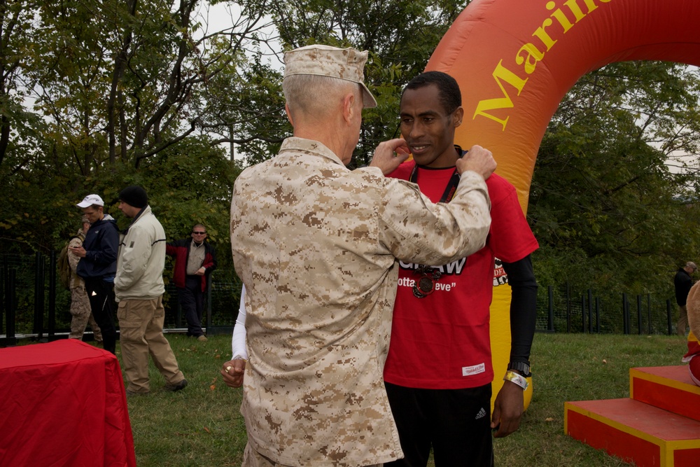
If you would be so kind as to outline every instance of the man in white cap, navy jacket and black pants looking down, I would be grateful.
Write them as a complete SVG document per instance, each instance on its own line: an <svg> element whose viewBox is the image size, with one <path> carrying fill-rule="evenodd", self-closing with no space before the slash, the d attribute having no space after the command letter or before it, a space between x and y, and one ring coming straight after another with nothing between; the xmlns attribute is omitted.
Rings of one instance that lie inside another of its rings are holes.
<svg viewBox="0 0 700 467"><path fill-rule="evenodd" d="M87 195L77 204L90 221L90 230L82 246L71 248L80 257L78 276L85 281L92 316L102 330L106 351L116 352L117 331L114 327L114 276L117 272L119 230L116 221L104 214L104 202L98 195Z"/></svg>

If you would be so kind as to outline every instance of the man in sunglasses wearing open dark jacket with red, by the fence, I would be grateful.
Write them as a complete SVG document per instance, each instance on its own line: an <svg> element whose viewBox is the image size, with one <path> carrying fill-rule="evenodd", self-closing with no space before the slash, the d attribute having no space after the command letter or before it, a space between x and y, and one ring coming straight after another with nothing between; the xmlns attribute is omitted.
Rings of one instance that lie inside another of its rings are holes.
<svg viewBox="0 0 700 467"><path fill-rule="evenodd" d="M166 247L166 253L175 256L173 280L187 319L187 335L202 342L207 340L202 330L204 291L209 274L216 269L216 251L206 239L207 229L197 224L192 228L191 238L169 242Z"/></svg>

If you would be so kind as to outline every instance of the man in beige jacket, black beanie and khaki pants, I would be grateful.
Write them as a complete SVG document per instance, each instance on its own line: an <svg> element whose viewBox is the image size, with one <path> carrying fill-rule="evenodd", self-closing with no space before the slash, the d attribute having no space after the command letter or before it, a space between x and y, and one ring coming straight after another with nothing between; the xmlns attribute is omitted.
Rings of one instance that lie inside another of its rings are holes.
<svg viewBox="0 0 700 467"><path fill-rule="evenodd" d="M165 230L148 205L146 190L129 186L119 193L119 209L132 218L120 236L114 293L118 302L119 342L129 385L127 395L148 394L148 354L165 378L167 391L187 386L170 343L163 335Z"/></svg>

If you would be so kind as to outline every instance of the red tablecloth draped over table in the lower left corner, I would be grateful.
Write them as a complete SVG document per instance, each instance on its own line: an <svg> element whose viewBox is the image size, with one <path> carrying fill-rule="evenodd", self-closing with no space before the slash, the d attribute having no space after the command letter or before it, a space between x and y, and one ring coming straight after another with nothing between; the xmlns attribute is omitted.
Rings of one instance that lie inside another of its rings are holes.
<svg viewBox="0 0 700 467"><path fill-rule="evenodd" d="M0 349L0 466L136 466L116 356L76 339Z"/></svg>

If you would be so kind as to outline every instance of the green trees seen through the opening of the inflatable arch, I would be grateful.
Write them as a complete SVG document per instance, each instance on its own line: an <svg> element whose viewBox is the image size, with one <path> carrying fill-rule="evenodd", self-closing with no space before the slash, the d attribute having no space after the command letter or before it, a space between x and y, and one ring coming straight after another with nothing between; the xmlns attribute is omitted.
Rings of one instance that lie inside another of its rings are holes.
<svg viewBox="0 0 700 467"><path fill-rule="evenodd" d="M672 296L678 265L700 256L696 175L667 165L671 151L696 150L699 82L679 65L619 63L568 93L531 186L540 284L569 281L608 302L622 291Z"/></svg>

